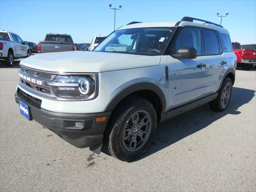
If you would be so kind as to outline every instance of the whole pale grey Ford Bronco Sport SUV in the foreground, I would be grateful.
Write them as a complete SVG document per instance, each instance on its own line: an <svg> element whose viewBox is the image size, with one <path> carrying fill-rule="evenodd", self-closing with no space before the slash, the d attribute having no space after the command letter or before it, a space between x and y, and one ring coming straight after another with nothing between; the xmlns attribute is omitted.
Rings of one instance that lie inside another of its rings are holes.
<svg viewBox="0 0 256 192"><path fill-rule="evenodd" d="M28 120L78 148L104 146L131 161L148 148L157 123L206 103L228 107L236 55L222 26L184 17L132 22L93 52L38 54L20 66L15 99Z"/></svg>

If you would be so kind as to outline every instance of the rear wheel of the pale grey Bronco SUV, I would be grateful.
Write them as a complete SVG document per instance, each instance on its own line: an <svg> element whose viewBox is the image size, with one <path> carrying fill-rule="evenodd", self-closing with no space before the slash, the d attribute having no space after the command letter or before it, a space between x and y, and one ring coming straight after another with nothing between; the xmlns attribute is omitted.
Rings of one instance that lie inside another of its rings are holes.
<svg viewBox="0 0 256 192"><path fill-rule="evenodd" d="M210 102L210 107L214 111L224 111L230 103L232 96L233 84L230 78L224 79L220 90L218 91L218 97Z"/></svg>

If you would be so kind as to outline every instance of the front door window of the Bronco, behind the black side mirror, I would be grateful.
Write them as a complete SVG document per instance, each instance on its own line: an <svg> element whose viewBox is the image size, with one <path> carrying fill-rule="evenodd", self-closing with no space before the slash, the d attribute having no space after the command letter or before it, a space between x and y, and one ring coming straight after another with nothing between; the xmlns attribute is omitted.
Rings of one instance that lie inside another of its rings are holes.
<svg viewBox="0 0 256 192"><path fill-rule="evenodd" d="M197 50L197 55L201 55L200 31L198 28L185 27L182 29L172 50L173 54L177 54L178 48L182 46L194 47Z"/></svg>

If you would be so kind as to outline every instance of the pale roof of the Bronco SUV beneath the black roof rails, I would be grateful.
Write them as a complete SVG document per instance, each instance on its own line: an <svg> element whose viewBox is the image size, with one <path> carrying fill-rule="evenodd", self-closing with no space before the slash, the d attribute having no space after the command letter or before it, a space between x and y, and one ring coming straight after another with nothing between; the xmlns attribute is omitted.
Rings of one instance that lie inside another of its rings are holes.
<svg viewBox="0 0 256 192"><path fill-rule="evenodd" d="M126 26L122 26L120 28L118 28L117 30L121 30L121 29L129 29L129 28L141 28L141 27L174 27L176 25L177 22L142 22L142 23L136 23L136 24L130 24L130 25L126 25ZM214 24L202 24L202 23L196 23L196 22L188 22L188 21L182 21L180 22L180 24L178 25L179 27L184 27L184 26L197 26L197 27L202 27L202 28L209 28L209 29L213 29L213 30L218 30L221 33L224 34L229 34L228 30L216 26Z"/></svg>

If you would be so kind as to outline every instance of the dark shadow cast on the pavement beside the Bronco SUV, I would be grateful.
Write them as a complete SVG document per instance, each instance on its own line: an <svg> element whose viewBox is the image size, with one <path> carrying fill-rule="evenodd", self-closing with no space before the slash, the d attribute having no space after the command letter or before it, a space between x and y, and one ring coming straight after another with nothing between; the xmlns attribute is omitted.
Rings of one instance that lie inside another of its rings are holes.
<svg viewBox="0 0 256 192"><path fill-rule="evenodd" d="M170 120L158 124L156 134L154 135L150 147L142 156L133 162L150 156L175 142L202 130L206 126L212 124L212 122L219 120L227 114L240 114L239 107L250 102L254 95L254 90L234 87L232 100L230 101L228 108L223 112L214 112L210 109L208 104L205 104L199 108L180 114ZM192 150L190 146L188 146L188 150Z"/></svg>

